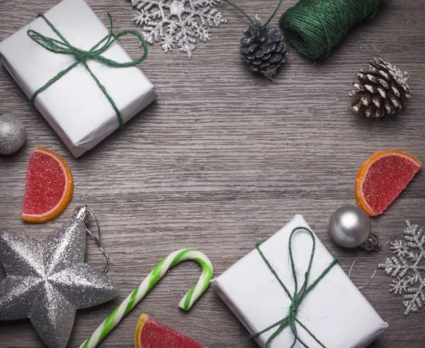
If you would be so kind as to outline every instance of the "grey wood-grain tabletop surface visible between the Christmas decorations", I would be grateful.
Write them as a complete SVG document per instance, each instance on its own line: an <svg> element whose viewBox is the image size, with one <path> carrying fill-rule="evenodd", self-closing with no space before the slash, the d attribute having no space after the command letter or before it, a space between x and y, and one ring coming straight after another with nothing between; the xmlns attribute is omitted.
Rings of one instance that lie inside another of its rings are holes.
<svg viewBox="0 0 425 348"><path fill-rule="evenodd" d="M131 22L129 1L88 2L104 23L110 11L116 30L137 28ZM260 18L266 18L276 2L237 1ZM295 2L285 1L279 13ZM0 40L56 3L1 0ZM76 206L88 204L98 216L111 255L108 275L120 286L115 300L77 312L69 347L79 347L169 252L200 249L219 275L295 213L305 216L348 272L361 250L337 247L327 234L327 222L336 208L355 203L358 167L381 149L406 150L425 160L423 0L387 1L372 22L353 28L320 62L292 50L273 82L249 73L239 56L244 17L225 4L220 10L228 23L213 28L212 42L198 44L191 60L178 50L164 54L159 45L149 47L149 57L140 68L156 86L157 102L79 159L72 157L0 67L0 111L20 118L27 129L22 150L0 157L0 228L42 239ZM277 25L277 18L273 23ZM358 47L365 43L378 47L410 74L414 99L395 117L368 120L348 106L351 82L370 59ZM123 46L133 57L140 54L130 41ZM20 217L28 156L35 145L60 153L75 181L67 210L42 225L23 223ZM420 172L395 203L373 219L373 230L384 247L359 260L353 272L355 284L364 284L378 262L391 255L389 241L402 237L406 218L425 226L424 182ZM103 266L91 240L86 259L98 269ZM198 266L191 262L176 267L101 347L133 347L142 313L210 348L256 347L211 290L189 313L179 310L181 296L198 275ZM4 276L0 269L0 279ZM390 325L370 347L425 347L424 310L404 317L402 298L388 292L390 282L379 270L362 290ZM43 344L29 320L20 320L0 322L0 347Z"/></svg>

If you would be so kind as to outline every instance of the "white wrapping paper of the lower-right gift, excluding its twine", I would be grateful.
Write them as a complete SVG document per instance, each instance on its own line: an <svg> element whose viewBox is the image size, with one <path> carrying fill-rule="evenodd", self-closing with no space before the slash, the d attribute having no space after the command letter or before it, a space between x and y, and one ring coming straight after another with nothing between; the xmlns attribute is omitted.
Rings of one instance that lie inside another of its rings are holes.
<svg viewBox="0 0 425 348"><path fill-rule="evenodd" d="M295 215L288 225L260 246L264 256L290 293L293 293L294 281L288 243L290 232L297 226L309 228L302 215ZM314 238L316 252L309 285L333 260L315 235ZM311 247L312 238L307 232L295 232L293 257L299 287L304 281ZM213 279L211 283L251 335L278 322L288 314L290 299L256 249L217 279ZM366 347L388 327L338 264L307 294L297 311L297 319L327 348ZM296 325L298 335L308 347L319 347L300 325ZM256 338L260 347L264 346L276 329L277 327ZM271 342L269 348L288 348L293 339L293 333L286 327ZM302 345L297 342L295 347L301 348Z"/></svg>

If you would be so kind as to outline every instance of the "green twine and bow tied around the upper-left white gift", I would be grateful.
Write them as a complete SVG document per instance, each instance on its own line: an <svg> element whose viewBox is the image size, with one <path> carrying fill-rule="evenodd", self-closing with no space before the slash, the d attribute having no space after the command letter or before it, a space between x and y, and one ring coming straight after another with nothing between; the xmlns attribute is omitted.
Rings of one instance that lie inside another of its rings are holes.
<svg viewBox="0 0 425 348"><path fill-rule="evenodd" d="M120 124L120 127L121 127L124 124L123 115L121 114L120 110L116 106L115 101L113 101L111 96L108 94L108 91L106 91L105 86L101 84L101 82L98 80L95 74L91 71L89 65L87 64L87 60L97 60L98 62L102 62L108 67L135 67L137 64L140 64L141 62L143 62L147 57L147 44L145 42L145 39L142 37L142 35L140 33L137 33L137 31L135 30L124 30L118 33L118 35L116 36L113 35L112 17L111 17L111 14L108 13L109 27L110 27L108 35L106 35L102 40L96 43L96 45L91 47L90 50L86 51L71 45L68 42L68 40L64 38L64 36L57 30L57 28L55 28L55 26L53 26L53 24L50 23L50 21L47 18L45 18L45 16L43 16L42 14L39 14L38 17L41 17L42 19L44 19L45 22L48 24L48 26L52 28L55 34L59 36L59 38L62 41L56 40L54 38L49 38L45 35L38 33L35 30L30 29L27 31L27 34L31 38L31 40L33 40L35 43L38 43L38 45L45 47L46 50L56 53L58 55L73 55L75 58L75 62L72 63L69 67L67 67L67 69L62 70L62 72L59 72L55 77L50 79L50 81L47 82L47 84L45 84L40 89L35 91L35 93L31 97L31 102L34 103L35 98L37 98L38 94L48 89L50 86L52 86L52 84L57 82L57 80L61 79L62 77L64 77L65 74L67 74L72 69L74 69L74 67L77 67L78 64L82 64L86 68L86 70L89 72L91 77L93 77L94 81L96 81L96 84L101 89L103 94L106 96L106 99L108 99L109 103L111 103L111 106L113 107L113 109L115 110L115 113L117 114L118 123ZM111 45L113 45L115 41L118 41L118 39L124 35L135 35L137 38L139 38L140 47L143 46L143 50L144 50L143 56L138 60L133 60L132 62L126 62L126 63L116 62L115 60L110 60L106 57L103 57L102 53L108 50L108 48L111 47Z"/></svg>

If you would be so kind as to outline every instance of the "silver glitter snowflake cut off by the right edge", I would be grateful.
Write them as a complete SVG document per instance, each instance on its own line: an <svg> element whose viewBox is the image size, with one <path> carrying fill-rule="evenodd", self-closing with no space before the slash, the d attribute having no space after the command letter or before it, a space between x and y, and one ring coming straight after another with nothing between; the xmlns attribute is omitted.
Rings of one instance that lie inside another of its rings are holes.
<svg viewBox="0 0 425 348"><path fill-rule="evenodd" d="M425 257L425 234L418 225L411 225L409 220L406 225L404 241L390 243L395 256L386 259L378 267L385 269L387 276L395 278L390 293L404 296L404 315L409 315L410 312L417 312L425 303L425 266L421 265Z"/></svg>

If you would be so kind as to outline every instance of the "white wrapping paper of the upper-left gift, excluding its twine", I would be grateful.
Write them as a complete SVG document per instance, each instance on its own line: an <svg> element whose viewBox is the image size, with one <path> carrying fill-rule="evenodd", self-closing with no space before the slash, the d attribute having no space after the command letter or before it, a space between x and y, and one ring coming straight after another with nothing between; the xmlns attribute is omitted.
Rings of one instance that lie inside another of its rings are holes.
<svg viewBox="0 0 425 348"><path fill-rule="evenodd" d="M71 45L83 50L90 50L108 34L106 26L84 0L64 0L45 16ZM31 98L58 72L69 67L74 57L49 52L28 37L28 29L59 38L42 18L37 18L0 43L1 62ZM139 57L142 55L141 48ZM117 62L132 61L118 43L114 43L103 56ZM137 67L113 68L94 60L87 62L115 101L125 122L157 98L154 86ZM81 64L39 94L35 107L75 157L90 150L119 127L111 103Z"/></svg>

